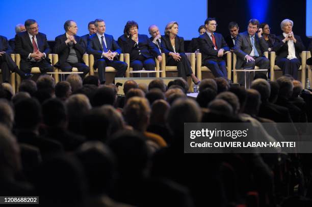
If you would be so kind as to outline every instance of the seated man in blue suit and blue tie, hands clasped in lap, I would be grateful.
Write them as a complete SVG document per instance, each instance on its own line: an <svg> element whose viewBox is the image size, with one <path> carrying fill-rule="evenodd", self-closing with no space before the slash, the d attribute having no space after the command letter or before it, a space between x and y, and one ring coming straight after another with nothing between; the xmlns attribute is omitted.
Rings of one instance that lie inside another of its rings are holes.
<svg viewBox="0 0 312 207"><path fill-rule="evenodd" d="M98 77L101 84L104 84L105 68L113 67L117 70L115 77L123 77L128 65L118 61L117 56L121 53L121 48L115 42L113 36L104 34L106 31L105 21L95 19L94 25L96 33L90 36L87 53L94 55L94 68L97 68Z"/></svg>

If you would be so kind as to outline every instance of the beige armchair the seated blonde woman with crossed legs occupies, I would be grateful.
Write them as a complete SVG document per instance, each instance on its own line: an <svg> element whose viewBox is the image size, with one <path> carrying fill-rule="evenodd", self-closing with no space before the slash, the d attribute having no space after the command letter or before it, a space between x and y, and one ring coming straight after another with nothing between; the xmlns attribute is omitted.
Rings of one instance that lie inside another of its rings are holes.
<svg viewBox="0 0 312 207"><path fill-rule="evenodd" d="M185 53L188 57L188 60L190 61L191 63L191 68L192 68L192 71L195 75L195 53ZM166 77L166 72L177 72L177 67L176 66L166 66L166 54L165 53L162 53L162 57L163 57L163 60L161 62L161 77L162 78L165 78ZM189 84L189 91L192 91L192 88L193 88L193 81L192 81L192 78L191 77L188 77L188 84Z"/></svg>

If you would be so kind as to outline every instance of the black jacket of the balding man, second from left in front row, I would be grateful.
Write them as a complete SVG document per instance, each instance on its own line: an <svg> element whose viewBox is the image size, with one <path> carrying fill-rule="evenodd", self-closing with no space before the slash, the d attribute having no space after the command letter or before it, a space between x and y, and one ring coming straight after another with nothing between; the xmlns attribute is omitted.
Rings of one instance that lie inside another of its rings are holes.
<svg viewBox="0 0 312 207"><path fill-rule="evenodd" d="M79 36L74 35L76 40L76 44L73 44L73 49L76 51L76 55L78 58L79 63L83 63L83 55L85 53L85 48L82 46L82 39ZM67 40L66 33L64 35L60 35L55 38L55 46L54 52L59 55L59 62L56 64L56 67L59 64L64 63L67 61L69 55L69 45L66 45L65 41Z"/></svg>

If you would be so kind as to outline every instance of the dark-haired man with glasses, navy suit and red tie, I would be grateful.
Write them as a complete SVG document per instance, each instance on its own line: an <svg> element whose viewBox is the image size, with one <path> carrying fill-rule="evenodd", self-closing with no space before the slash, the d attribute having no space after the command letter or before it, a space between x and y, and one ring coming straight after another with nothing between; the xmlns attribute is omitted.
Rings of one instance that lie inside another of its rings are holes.
<svg viewBox="0 0 312 207"><path fill-rule="evenodd" d="M206 33L198 38L199 50L202 55L202 65L208 67L216 78L227 78L223 55L226 51L229 51L229 48L223 36L215 33L217 29L215 18L207 18L205 20L205 27Z"/></svg>

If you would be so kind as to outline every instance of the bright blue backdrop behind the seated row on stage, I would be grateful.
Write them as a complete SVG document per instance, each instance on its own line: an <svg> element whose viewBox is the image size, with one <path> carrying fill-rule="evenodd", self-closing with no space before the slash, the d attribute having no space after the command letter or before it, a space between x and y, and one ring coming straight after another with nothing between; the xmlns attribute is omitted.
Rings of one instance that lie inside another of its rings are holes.
<svg viewBox="0 0 312 207"><path fill-rule="evenodd" d="M48 40L64 33L63 25L68 19L76 21L79 36L88 34L88 22L96 18L106 21L107 33L117 38L123 34L128 20L139 24L139 33L148 35L148 26L157 24L160 32L170 21L179 23L179 36L191 40L198 36L197 29L204 23L207 14L206 0L167 1L167 0L1 0L1 33L11 39L15 36L14 27L26 19L35 19L39 31Z"/></svg>

